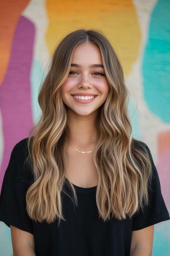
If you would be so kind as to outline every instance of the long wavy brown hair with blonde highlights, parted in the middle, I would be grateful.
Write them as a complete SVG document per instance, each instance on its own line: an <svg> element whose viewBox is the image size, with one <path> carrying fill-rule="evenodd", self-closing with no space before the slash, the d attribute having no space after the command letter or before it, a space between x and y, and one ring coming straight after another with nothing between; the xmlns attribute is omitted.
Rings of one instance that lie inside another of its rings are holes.
<svg viewBox="0 0 170 256"><path fill-rule="evenodd" d="M127 112L128 90L119 59L110 42L99 30L78 29L59 42L51 58L48 73L39 90L42 114L31 129L27 141L34 182L26 193L26 209L34 221L48 224L62 215L61 192L67 182L74 202L77 194L65 170L68 169L66 142L70 140L67 108L61 87L68 77L71 58L78 44L91 42L99 47L109 92L100 106L96 121L98 140L94 164L98 173L96 204L98 217L107 221L132 215L148 204L148 183L152 165L146 144L132 136ZM69 195L68 195L69 196Z"/></svg>

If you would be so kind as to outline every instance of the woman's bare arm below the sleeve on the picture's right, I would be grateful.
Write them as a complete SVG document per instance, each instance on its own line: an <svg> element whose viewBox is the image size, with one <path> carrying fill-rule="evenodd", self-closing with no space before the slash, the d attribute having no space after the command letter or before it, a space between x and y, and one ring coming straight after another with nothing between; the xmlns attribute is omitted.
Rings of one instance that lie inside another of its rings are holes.
<svg viewBox="0 0 170 256"><path fill-rule="evenodd" d="M154 225L132 231L130 256L152 256Z"/></svg>

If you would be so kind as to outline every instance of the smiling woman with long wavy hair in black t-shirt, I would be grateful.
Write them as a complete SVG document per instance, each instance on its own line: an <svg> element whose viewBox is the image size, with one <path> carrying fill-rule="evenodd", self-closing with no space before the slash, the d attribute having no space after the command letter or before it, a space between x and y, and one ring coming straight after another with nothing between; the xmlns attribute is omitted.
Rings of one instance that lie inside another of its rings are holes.
<svg viewBox="0 0 170 256"><path fill-rule="evenodd" d="M14 256L151 255L154 224L170 216L150 150L132 137L127 98L101 32L62 39L40 120L14 146L3 180L0 221Z"/></svg>

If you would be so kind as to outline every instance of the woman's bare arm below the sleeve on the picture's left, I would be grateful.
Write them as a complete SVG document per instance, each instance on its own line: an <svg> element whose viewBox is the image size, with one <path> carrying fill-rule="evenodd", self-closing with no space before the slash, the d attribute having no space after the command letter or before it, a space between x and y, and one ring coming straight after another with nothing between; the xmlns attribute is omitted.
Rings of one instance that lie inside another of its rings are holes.
<svg viewBox="0 0 170 256"><path fill-rule="evenodd" d="M34 251L34 235L10 225L13 256L36 256Z"/></svg>

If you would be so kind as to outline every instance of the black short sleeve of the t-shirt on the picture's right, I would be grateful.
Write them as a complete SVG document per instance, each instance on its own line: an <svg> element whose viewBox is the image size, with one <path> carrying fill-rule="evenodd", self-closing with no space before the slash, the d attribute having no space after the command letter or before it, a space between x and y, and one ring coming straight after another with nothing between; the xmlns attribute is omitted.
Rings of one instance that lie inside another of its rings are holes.
<svg viewBox="0 0 170 256"><path fill-rule="evenodd" d="M145 143L144 143L145 144ZM149 227L161 221L170 220L170 215L167 207L164 203L164 198L161 194L161 185L159 181L159 175L156 170L153 158L150 153L150 149L145 144L147 152L149 153L152 163L152 177L150 186L148 188L149 204L144 207L144 210L139 209L133 217L132 231L140 230L145 227Z"/></svg>

